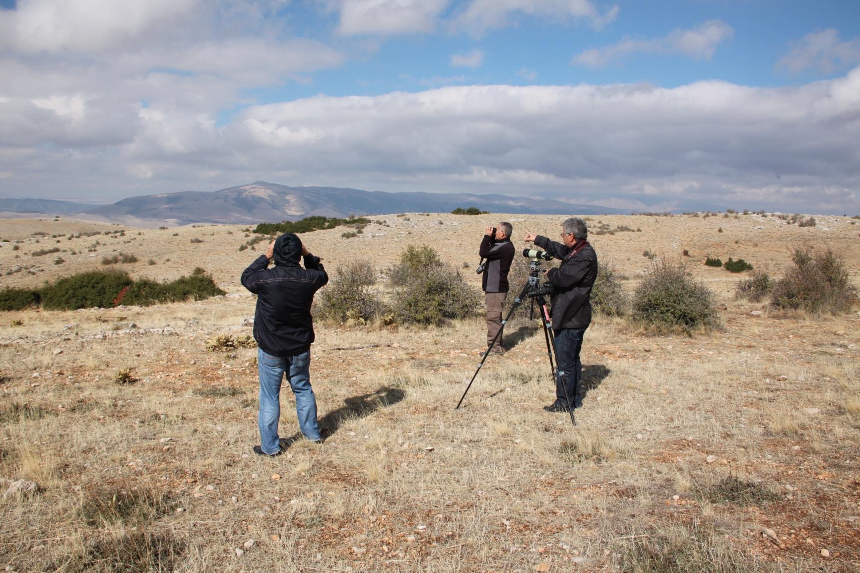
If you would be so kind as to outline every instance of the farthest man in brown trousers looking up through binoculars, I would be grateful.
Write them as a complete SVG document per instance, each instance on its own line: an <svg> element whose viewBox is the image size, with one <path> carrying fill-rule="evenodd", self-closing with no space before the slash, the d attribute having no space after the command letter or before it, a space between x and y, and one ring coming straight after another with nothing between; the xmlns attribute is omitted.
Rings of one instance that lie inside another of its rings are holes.
<svg viewBox="0 0 860 573"><path fill-rule="evenodd" d="M496 227L488 226L484 229L481 248L478 250L478 255L487 259L481 280L487 302L487 346L501 330L501 309L505 304L508 289L507 273L513 262L512 232L513 225L504 221ZM504 335L499 335L499 340L493 347L493 352L498 354L505 354L505 348L501 345L502 336Z"/></svg>

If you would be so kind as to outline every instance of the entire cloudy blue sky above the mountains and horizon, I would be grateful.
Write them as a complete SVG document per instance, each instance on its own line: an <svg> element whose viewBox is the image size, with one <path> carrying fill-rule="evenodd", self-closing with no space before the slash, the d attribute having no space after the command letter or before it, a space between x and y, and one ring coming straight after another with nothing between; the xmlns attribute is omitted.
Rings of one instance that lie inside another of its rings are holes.
<svg viewBox="0 0 860 573"><path fill-rule="evenodd" d="M0 0L0 196L860 212L860 4Z"/></svg>

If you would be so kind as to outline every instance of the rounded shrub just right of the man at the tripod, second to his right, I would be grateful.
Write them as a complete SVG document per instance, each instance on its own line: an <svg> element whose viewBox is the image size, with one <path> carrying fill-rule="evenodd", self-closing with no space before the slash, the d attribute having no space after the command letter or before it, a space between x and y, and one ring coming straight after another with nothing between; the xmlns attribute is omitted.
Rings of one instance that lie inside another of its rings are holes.
<svg viewBox="0 0 860 573"><path fill-rule="evenodd" d="M714 294L687 276L678 263L655 262L636 288L633 318L658 331L714 329L719 325Z"/></svg>

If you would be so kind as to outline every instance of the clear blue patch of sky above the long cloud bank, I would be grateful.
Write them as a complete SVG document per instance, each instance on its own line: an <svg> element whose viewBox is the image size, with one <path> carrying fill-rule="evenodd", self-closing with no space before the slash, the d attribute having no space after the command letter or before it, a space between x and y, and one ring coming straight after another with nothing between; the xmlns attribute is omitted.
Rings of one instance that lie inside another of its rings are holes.
<svg viewBox="0 0 860 573"><path fill-rule="evenodd" d="M455 12L460 5L451 4L447 13ZM860 34L860 4L852 0L622 0L604 4L613 5L619 7L617 18L600 29L586 22L554 23L520 15L513 17L512 25L480 37L444 31L383 39L363 34L365 39L378 40L378 52L336 70L321 71L312 83L292 83L283 89L262 92L261 100L279 101L318 93L379 95L393 90L416 91L439 85L439 78L463 85L647 82L676 87L706 79L755 86L797 85L836 77L848 66L829 74L777 70L777 62L790 52L793 42L826 28L838 30L845 40ZM324 15L307 6L297 11L291 7L286 13L288 21L294 22L292 28L306 30L313 37L331 40L336 33L336 14ZM725 22L733 31L710 58L652 52L634 53L604 66L571 63L575 54L590 48L611 46L624 38L659 39L673 30L696 28L710 21ZM335 38L335 42L342 41ZM476 69L451 66L452 55L476 50L483 53L482 65Z"/></svg>

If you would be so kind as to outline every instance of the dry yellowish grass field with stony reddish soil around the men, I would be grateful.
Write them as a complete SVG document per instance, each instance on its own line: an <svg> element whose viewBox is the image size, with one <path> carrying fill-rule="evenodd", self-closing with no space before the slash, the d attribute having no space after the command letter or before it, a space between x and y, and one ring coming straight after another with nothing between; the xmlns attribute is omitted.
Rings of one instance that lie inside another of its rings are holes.
<svg viewBox="0 0 860 573"><path fill-rule="evenodd" d="M468 262L462 272L479 285L485 225L511 221L519 249L525 228L557 237L563 217L372 219L380 224L359 237L339 228L303 240L329 274L356 259L381 272L407 245L429 244L445 262ZM138 262L115 266L135 277L202 267L228 293L0 314L0 490L38 485L0 500L0 568L860 570L858 309L770 311L734 299L745 274L702 264L740 257L780 276L808 244L844 256L857 284L860 221L817 219L799 228L752 214L589 218L601 262L628 291L652 262L645 251L684 260L716 293L724 329L647 336L596 317L575 428L542 410L554 387L537 322L511 325L513 349L488 360L460 410L482 318L317 324L311 381L329 437L292 441L274 459L251 452L255 348L206 350L212 336L250 334L254 299L238 277L265 243L240 252L250 237L238 225L0 220L0 238L21 241L0 245L0 288L106 268L102 257L121 252ZM598 234L601 225L631 231ZM290 437L298 426L290 392L282 397Z"/></svg>

